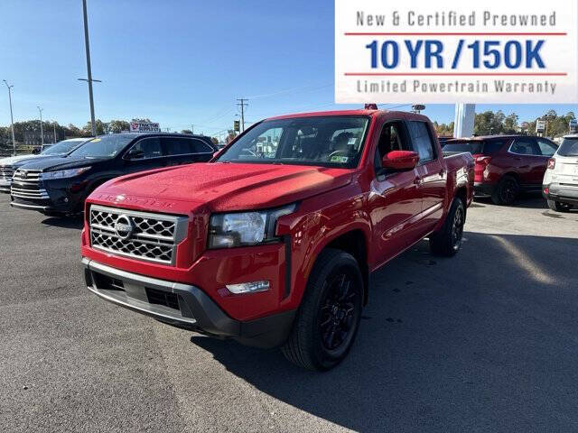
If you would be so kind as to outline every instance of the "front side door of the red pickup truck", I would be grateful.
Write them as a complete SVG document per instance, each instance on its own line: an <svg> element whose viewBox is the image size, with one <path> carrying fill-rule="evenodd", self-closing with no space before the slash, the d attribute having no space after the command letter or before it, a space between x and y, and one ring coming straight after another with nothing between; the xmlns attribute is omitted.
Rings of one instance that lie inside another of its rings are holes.
<svg viewBox="0 0 578 433"><path fill-rule="evenodd" d="M381 128L374 154L375 178L368 196L374 226L373 242L378 245L377 265L387 262L418 240L413 228L422 209L417 170L386 172L381 167L381 159L388 152L413 150L405 121L387 121Z"/></svg>

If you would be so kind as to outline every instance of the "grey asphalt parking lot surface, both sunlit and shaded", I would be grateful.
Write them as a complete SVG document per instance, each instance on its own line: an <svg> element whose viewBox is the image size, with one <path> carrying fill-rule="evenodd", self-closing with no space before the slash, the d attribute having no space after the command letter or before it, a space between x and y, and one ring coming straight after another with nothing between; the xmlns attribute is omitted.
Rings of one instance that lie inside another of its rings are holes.
<svg viewBox="0 0 578 433"><path fill-rule="evenodd" d="M2 431L577 431L578 212L474 203L453 259L378 272L349 358L164 326L89 294L80 223L0 197Z"/></svg>

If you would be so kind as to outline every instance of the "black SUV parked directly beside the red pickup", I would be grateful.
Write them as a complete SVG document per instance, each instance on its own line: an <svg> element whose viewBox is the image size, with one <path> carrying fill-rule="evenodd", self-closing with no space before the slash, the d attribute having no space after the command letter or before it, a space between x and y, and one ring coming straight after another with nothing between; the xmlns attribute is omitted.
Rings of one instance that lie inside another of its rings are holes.
<svg viewBox="0 0 578 433"><path fill-rule="evenodd" d="M182 134L110 134L85 143L66 158L31 161L14 171L13 207L46 215L79 213L107 180L136 171L210 161L209 137Z"/></svg>

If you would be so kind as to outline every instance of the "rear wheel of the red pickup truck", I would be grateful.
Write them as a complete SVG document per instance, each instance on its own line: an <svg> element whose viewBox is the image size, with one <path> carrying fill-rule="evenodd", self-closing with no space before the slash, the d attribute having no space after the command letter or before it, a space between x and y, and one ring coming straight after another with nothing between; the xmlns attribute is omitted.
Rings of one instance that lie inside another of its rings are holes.
<svg viewBox="0 0 578 433"><path fill-rule="evenodd" d="M466 207L461 198L453 198L452 206L445 218L442 230L430 236L430 250L435 255L452 257L460 251L463 226L466 222Z"/></svg>

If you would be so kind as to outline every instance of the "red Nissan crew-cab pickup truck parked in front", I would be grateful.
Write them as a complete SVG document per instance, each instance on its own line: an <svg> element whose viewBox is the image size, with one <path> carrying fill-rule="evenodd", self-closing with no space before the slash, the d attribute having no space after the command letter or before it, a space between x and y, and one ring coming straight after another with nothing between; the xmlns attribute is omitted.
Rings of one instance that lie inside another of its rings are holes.
<svg viewBox="0 0 578 433"><path fill-rule="evenodd" d="M371 274L424 237L460 249L470 153L422 115L286 115L208 163L110 180L87 199L86 284L175 327L281 346L328 370L348 354Z"/></svg>

